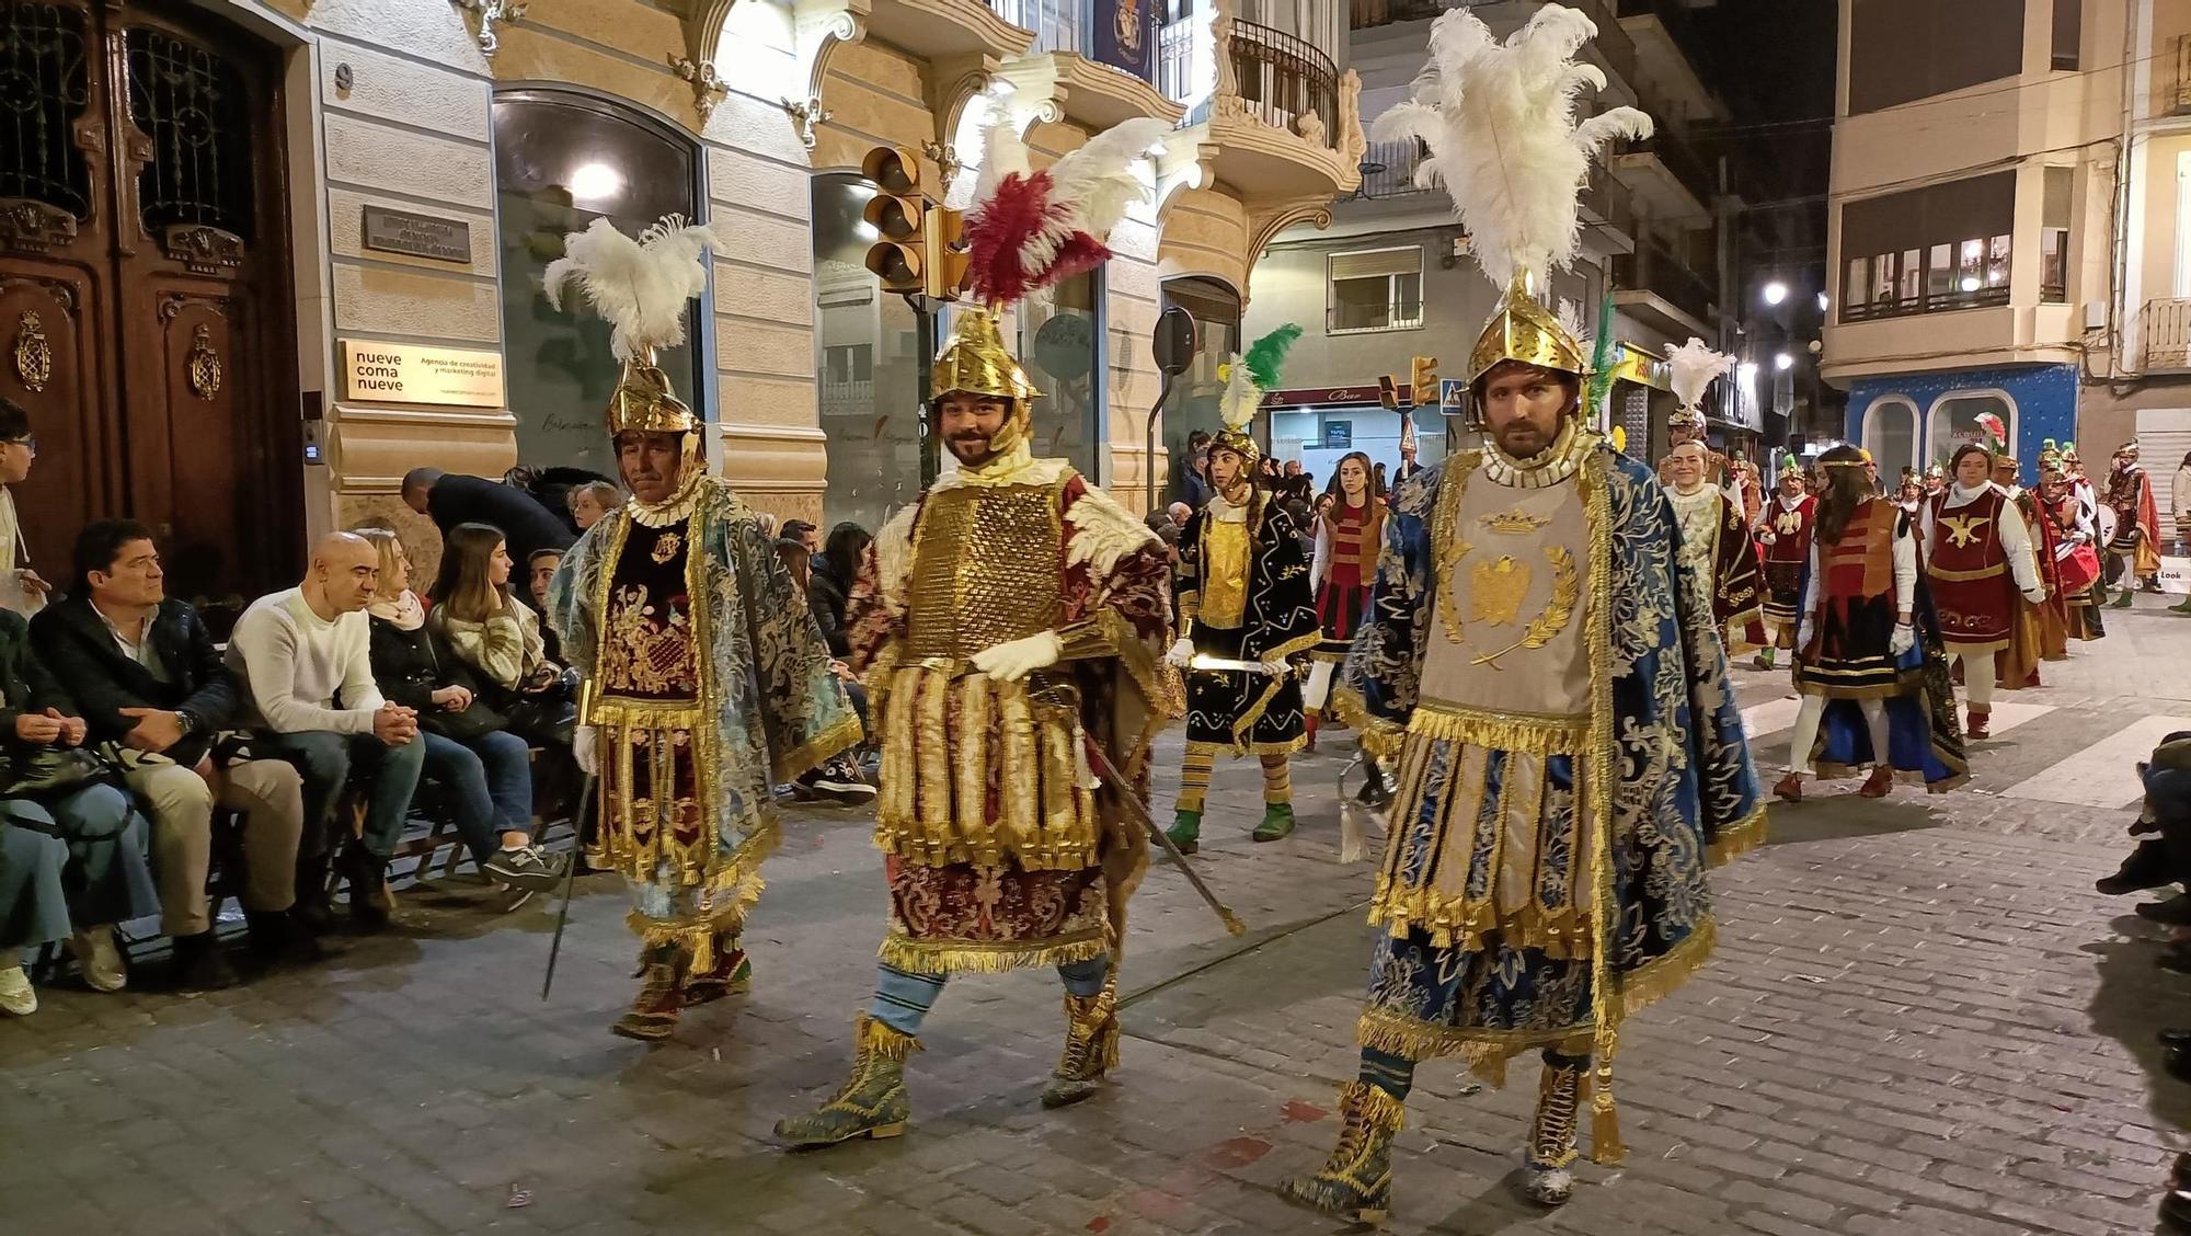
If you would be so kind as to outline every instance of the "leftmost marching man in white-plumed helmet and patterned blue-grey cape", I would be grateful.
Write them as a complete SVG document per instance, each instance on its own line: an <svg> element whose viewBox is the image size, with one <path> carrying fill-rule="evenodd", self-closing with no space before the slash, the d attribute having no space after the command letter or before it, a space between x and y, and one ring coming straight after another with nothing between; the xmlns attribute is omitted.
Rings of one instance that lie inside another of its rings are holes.
<svg viewBox="0 0 2191 1236"><path fill-rule="evenodd" d="M640 234L594 219L546 289L576 283L613 327L607 430L631 502L603 515L548 585L585 675L574 752L598 776L585 861L631 885L642 986L613 1032L666 1039L679 1010L743 991L741 945L776 848L776 785L859 741L828 646L760 519L708 476L701 421L657 368L708 287L714 234L670 217Z"/></svg>

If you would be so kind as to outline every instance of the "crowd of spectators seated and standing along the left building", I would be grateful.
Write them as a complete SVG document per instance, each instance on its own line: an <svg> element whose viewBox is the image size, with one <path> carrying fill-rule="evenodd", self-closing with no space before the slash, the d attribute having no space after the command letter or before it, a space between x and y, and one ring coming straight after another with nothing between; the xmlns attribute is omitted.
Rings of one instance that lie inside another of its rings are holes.
<svg viewBox="0 0 2191 1236"><path fill-rule="evenodd" d="M440 533L432 581L392 524L368 522L320 537L298 585L252 600L217 640L167 594L138 522L94 519L53 583L22 563L4 487L35 458L28 414L0 399L0 1012L37 1008L22 962L53 947L90 988L127 986L121 927L151 916L171 940L171 991L320 960L337 890L351 931L390 925L390 863L421 817L454 831L506 907L583 861L535 835L565 817L589 831L594 811L570 749L578 675L543 614L563 552L624 504L616 482L414 469L403 502ZM868 533L839 524L824 546L787 522L776 535L844 657ZM787 789L874 796L850 758ZM228 894L239 958L215 931Z"/></svg>

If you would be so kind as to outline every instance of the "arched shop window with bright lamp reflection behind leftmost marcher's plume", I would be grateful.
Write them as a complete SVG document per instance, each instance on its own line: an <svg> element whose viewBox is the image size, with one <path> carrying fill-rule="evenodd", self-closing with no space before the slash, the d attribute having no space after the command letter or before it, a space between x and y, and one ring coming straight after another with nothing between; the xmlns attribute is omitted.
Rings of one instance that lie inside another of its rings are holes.
<svg viewBox="0 0 2191 1236"><path fill-rule="evenodd" d="M502 252L502 344L517 460L616 476L603 414L620 364L609 324L581 298L541 296L563 237L607 217L638 232L664 215L699 217L699 151L616 103L557 90L495 96L495 241ZM701 346L706 305L686 307L686 346L659 357L677 397L708 416Z"/></svg>

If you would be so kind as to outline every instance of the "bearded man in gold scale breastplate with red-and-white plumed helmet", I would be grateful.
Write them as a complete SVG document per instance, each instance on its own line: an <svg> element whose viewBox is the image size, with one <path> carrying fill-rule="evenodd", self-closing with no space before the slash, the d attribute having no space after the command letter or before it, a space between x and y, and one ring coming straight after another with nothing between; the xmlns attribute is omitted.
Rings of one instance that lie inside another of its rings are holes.
<svg viewBox="0 0 2191 1236"><path fill-rule="evenodd" d="M1133 164L1168 131L1126 121L1028 175L1017 123L1001 107L988 121L966 213L979 307L960 311L929 390L957 469L883 526L850 605L883 743L890 929L850 1078L776 1124L793 1146L905 1131L905 1058L953 973L1058 969L1065 1054L1043 1107L1093 1096L1117 1067L1113 960L1148 835L1115 796L1146 802L1150 743L1181 710L1161 660L1168 563L1071 465L1032 458L1036 388L997 313L1111 256L1102 239L1139 195ZM1124 785L1098 787L1089 749Z"/></svg>

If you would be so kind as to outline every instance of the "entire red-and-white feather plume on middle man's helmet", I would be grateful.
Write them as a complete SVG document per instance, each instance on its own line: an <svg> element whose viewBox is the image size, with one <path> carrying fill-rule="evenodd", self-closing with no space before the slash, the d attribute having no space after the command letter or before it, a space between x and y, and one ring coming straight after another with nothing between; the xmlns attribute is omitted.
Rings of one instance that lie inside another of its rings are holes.
<svg viewBox="0 0 2191 1236"><path fill-rule="evenodd" d="M975 300L1012 305L1111 261L1111 228L1146 197L1133 164L1170 131L1166 121L1126 121L1034 171L1019 125L993 107L964 230Z"/></svg>

